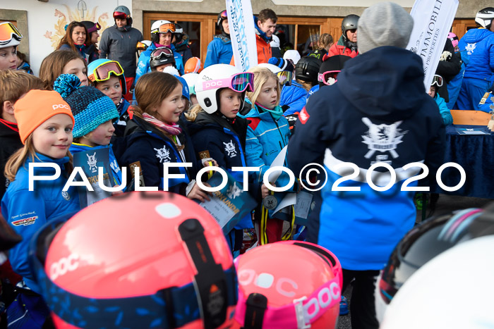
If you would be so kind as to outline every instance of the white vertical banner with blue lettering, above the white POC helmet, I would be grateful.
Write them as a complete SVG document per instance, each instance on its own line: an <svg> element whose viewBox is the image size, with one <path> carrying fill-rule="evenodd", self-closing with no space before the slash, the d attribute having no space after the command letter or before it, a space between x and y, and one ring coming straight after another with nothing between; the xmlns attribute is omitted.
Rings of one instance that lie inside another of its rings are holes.
<svg viewBox="0 0 494 329"><path fill-rule="evenodd" d="M236 68L246 71L258 65L251 0L227 0L228 25Z"/></svg>

